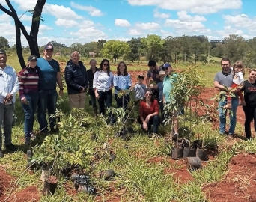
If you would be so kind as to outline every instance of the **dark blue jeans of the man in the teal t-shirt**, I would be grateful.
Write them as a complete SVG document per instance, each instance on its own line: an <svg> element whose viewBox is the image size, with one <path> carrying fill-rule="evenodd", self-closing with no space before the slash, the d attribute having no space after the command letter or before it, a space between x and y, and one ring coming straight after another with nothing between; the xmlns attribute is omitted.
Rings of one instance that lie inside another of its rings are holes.
<svg viewBox="0 0 256 202"><path fill-rule="evenodd" d="M39 91L37 119L40 125L40 131L46 131L48 127L46 120L46 110L48 111L50 128L54 128L56 120L55 118L50 118L50 114L55 114L57 98L58 94L55 89Z"/></svg>

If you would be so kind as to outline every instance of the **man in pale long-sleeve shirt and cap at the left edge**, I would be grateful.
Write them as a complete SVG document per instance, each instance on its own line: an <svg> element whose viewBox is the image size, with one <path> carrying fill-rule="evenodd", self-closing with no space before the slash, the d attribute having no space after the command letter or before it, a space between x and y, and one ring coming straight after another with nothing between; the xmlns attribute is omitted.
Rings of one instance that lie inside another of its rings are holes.
<svg viewBox="0 0 256 202"><path fill-rule="evenodd" d="M4 157L1 150L2 133L1 125L4 126L4 145L8 150L16 151L17 148L11 142L13 112L15 95L19 91L19 79L13 67L6 65L7 55L0 50L0 158Z"/></svg>

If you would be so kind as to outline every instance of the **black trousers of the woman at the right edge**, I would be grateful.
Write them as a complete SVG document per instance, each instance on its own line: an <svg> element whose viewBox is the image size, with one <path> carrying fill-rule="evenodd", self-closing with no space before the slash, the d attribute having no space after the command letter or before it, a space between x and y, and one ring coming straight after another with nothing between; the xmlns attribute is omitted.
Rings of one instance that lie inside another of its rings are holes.
<svg viewBox="0 0 256 202"><path fill-rule="evenodd" d="M246 105L243 106L243 111L245 112L245 132L246 138L250 139L251 134L251 121L254 120L255 132L256 132L256 105Z"/></svg>

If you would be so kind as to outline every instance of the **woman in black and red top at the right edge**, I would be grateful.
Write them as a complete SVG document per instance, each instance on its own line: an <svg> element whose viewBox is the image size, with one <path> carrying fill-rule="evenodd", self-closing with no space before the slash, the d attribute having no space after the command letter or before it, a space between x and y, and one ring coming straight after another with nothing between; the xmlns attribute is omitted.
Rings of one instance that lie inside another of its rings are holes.
<svg viewBox="0 0 256 202"><path fill-rule="evenodd" d="M245 132L246 138L249 140L252 138L251 134L251 121L254 120L255 132L256 132L256 69L249 70L248 79L244 82L244 97L246 105L243 106L245 113Z"/></svg>

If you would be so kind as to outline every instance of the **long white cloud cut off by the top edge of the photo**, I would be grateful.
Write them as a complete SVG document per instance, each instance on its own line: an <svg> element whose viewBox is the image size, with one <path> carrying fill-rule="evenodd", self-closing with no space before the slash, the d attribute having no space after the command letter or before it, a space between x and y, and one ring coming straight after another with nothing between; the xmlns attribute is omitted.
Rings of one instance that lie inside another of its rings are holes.
<svg viewBox="0 0 256 202"><path fill-rule="evenodd" d="M132 6L156 6L166 10L187 10L191 13L216 13L219 10L239 9L242 0L127 0Z"/></svg>

